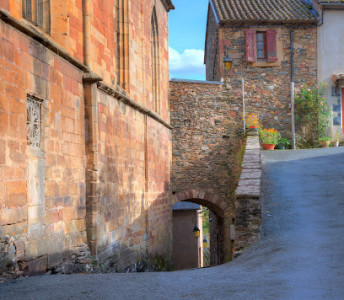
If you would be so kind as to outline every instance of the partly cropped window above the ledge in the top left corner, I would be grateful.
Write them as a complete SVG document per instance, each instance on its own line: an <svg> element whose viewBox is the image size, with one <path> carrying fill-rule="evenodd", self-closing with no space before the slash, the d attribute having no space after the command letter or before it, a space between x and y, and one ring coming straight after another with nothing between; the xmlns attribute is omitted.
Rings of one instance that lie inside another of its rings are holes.
<svg viewBox="0 0 344 300"><path fill-rule="evenodd" d="M49 0L23 0L23 17L45 32L50 31Z"/></svg>

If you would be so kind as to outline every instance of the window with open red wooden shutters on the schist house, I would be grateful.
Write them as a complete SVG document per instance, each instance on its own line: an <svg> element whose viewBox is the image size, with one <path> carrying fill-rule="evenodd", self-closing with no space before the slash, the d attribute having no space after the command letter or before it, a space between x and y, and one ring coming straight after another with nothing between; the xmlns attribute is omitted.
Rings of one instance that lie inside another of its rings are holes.
<svg viewBox="0 0 344 300"><path fill-rule="evenodd" d="M276 31L246 31L246 60L249 62L277 61Z"/></svg>

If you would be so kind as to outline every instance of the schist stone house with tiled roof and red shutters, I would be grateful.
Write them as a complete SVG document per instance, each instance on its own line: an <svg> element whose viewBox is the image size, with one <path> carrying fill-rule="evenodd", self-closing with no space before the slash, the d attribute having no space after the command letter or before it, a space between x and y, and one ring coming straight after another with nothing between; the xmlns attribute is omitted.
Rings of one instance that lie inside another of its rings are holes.
<svg viewBox="0 0 344 300"><path fill-rule="evenodd" d="M291 83L317 81L317 15L303 0L210 0L206 77L223 81L238 115L258 113L264 127L291 135ZM232 59L224 71L225 56ZM244 103L244 104L243 104ZM240 121L239 121L240 122Z"/></svg>

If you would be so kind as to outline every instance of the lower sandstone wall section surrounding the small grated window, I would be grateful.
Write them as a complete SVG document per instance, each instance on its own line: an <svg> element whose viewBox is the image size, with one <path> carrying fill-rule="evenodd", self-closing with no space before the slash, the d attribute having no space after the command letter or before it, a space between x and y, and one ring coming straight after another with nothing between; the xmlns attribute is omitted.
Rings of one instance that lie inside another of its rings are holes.
<svg viewBox="0 0 344 300"><path fill-rule="evenodd" d="M61 263L86 241L81 79L0 21L0 227L17 239L17 256L31 273ZM27 146L27 94L44 101L40 150Z"/></svg>

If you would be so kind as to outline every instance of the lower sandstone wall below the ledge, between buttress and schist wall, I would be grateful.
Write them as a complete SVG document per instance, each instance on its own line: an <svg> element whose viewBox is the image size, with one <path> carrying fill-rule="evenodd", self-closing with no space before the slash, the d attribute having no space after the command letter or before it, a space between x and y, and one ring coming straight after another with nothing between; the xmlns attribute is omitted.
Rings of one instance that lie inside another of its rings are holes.
<svg viewBox="0 0 344 300"><path fill-rule="evenodd" d="M149 251L170 259L170 132L123 102L98 93L98 251L118 269ZM147 134L147 140L145 138Z"/></svg>

